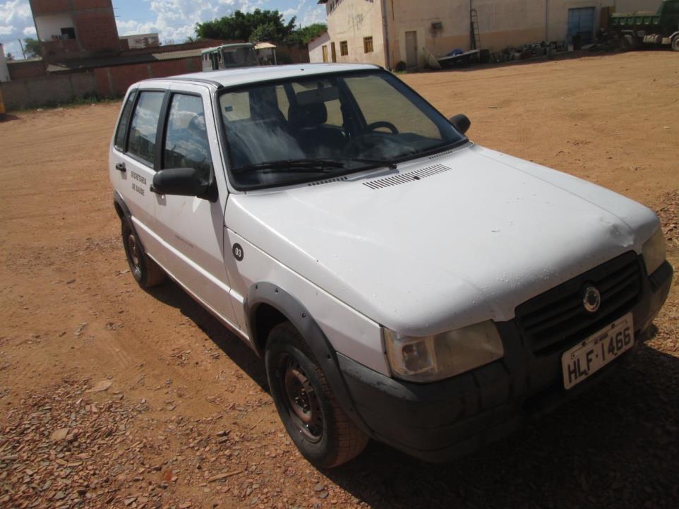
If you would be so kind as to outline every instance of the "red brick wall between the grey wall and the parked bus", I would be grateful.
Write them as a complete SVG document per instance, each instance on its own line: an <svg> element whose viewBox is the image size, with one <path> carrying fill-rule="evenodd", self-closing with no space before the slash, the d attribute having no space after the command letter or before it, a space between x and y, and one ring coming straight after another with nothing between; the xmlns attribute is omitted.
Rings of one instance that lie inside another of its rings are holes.
<svg viewBox="0 0 679 509"><path fill-rule="evenodd" d="M181 60L164 60L148 64L100 67L95 69L97 92L102 97L121 97L133 83L148 78L164 78L196 73L203 69L200 56Z"/></svg>

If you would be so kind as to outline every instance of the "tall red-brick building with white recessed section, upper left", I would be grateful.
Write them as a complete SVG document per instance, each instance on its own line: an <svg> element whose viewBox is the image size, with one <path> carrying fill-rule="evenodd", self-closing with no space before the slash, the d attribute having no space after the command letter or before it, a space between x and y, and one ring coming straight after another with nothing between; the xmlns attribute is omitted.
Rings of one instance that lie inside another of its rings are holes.
<svg viewBox="0 0 679 509"><path fill-rule="evenodd" d="M30 0L30 8L47 63L121 49L111 0Z"/></svg>

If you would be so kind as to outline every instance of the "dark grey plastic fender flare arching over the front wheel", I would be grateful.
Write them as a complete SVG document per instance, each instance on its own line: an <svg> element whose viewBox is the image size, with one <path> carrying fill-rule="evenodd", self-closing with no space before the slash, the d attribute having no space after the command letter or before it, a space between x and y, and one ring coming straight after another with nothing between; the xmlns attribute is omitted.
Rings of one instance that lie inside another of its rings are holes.
<svg viewBox="0 0 679 509"><path fill-rule="evenodd" d="M325 333L323 333L323 330L313 319L311 313L307 311L306 307L296 297L280 286L269 282L258 282L252 285L248 289L248 295L244 302L248 330L258 354L263 355L264 353L261 351L261 347L257 344L256 340L257 324L255 316L260 304L268 304L276 309L299 330L299 333L304 337L306 344L311 349L313 356L316 357L321 371L325 374L325 378L328 380L330 388L332 388L332 392L337 398L337 402L363 433L373 436L371 429L354 408L354 402L351 400L347 383L344 381L339 361L337 361L337 352L330 345L328 337L325 336Z"/></svg>

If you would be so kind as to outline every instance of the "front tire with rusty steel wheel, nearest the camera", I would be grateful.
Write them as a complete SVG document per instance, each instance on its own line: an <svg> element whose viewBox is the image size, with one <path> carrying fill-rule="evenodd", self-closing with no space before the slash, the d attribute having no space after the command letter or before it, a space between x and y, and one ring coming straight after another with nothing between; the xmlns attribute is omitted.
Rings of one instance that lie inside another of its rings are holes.
<svg viewBox="0 0 679 509"><path fill-rule="evenodd" d="M337 467L366 448L368 436L337 403L311 350L291 323L280 323L271 330L265 362L280 419L312 465Z"/></svg>

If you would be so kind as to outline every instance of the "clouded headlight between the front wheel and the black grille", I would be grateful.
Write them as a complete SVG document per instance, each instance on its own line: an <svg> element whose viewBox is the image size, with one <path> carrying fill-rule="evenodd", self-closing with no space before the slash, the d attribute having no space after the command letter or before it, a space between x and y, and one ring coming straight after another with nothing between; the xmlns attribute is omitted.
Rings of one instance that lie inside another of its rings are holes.
<svg viewBox="0 0 679 509"><path fill-rule="evenodd" d="M504 354L492 321L426 337L400 336L383 330L393 373L412 382L450 378L501 359Z"/></svg>

